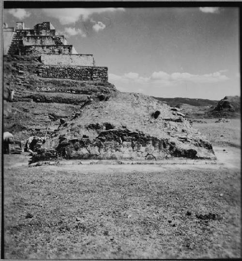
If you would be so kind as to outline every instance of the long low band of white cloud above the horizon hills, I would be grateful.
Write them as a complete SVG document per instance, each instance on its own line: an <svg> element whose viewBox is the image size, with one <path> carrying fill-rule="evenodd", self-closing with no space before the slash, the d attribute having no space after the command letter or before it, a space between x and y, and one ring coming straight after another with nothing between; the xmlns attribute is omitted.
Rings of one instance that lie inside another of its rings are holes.
<svg viewBox="0 0 242 261"><path fill-rule="evenodd" d="M210 74L190 74L187 72L180 73L174 72L168 74L163 71L153 72L150 77L139 76L138 73L129 72L124 75L109 74L108 78L110 82L138 82L138 83L159 83L164 86L174 86L181 82L193 82L193 83L213 83L213 82L224 82L229 78L222 74L227 70L221 70Z"/></svg>

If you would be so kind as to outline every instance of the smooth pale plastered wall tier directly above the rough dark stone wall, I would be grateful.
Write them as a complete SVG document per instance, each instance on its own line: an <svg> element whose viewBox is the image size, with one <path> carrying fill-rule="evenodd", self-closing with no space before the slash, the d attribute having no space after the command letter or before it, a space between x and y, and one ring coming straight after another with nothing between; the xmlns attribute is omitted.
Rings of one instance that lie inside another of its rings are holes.
<svg viewBox="0 0 242 261"><path fill-rule="evenodd" d="M92 54L42 54L44 65L95 66Z"/></svg>

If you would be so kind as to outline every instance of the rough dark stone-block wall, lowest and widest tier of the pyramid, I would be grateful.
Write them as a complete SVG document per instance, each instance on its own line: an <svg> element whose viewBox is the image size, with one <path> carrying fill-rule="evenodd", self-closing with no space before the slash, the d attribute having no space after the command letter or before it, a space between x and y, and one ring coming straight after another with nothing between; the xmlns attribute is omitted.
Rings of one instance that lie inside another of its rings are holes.
<svg viewBox="0 0 242 261"><path fill-rule="evenodd" d="M44 78L73 79L80 81L108 80L107 67L39 65L37 74Z"/></svg>

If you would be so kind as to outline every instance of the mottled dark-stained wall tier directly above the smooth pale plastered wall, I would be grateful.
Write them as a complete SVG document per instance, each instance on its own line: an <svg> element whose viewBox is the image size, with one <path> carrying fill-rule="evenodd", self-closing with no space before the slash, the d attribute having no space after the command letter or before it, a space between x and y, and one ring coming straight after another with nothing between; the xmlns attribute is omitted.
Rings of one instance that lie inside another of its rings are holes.
<svg viewBox="0 0 242 261"><path fill-rule="evenodd" d="M70 54L72 45L30 45L24 46L20 50L20 55L40 55L41 53Z"/></svg>

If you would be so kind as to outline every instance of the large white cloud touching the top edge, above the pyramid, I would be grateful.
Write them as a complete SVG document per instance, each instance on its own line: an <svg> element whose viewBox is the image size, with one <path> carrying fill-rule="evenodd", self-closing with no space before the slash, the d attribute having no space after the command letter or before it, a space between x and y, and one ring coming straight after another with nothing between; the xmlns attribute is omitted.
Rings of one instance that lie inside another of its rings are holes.
<svg viewBox="0 0 242 261"><path fill-rule="evenodd" d="M76 23L79 19L87 21L95 13L124 11L124 8L50 8L42 10L45 15L57 18L61 24L65 25Z"/></svg>

